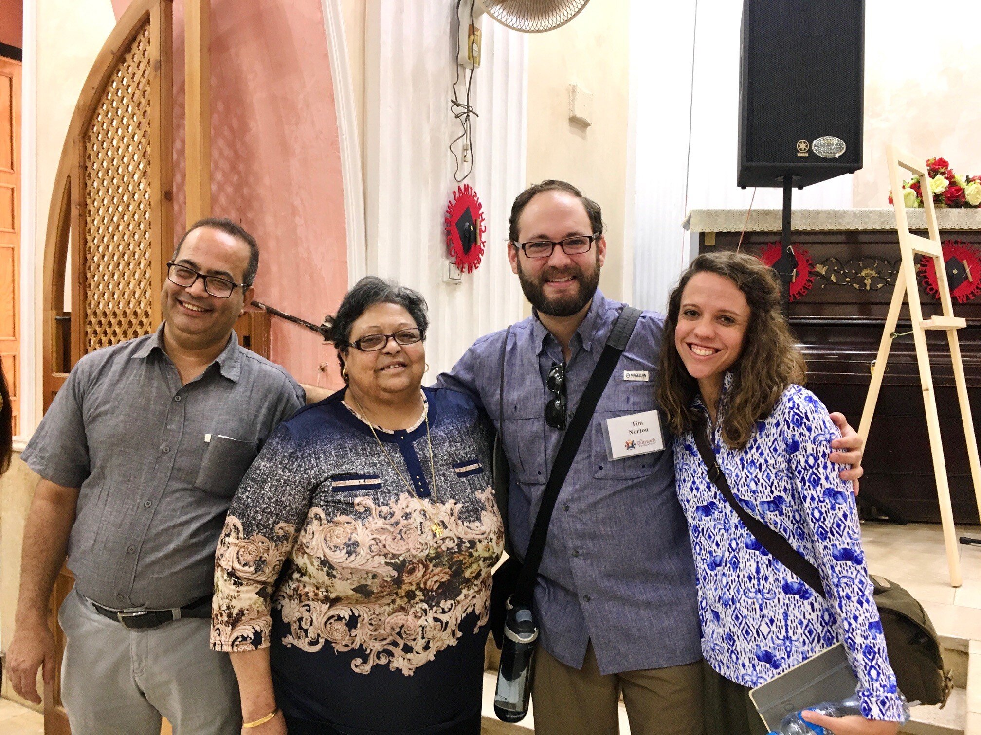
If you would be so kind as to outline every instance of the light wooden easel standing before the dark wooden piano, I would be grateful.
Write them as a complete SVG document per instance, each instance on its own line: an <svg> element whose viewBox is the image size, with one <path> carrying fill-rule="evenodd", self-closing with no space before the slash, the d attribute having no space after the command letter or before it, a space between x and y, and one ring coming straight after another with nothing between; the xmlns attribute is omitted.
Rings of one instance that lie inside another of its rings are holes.
<svg viewBox="0 0 981 735"><path fill-rule="evenodd" d="M971 479L974 483L974 498L981 511L981 463L978 461L978 445L974 437L974 424L971 421L971 407L967 402L967 381L964 378L964 365L960 360L960 342L957 340L957 329L963 328L967 322L954 316L954 304L951 301L951 289L947 282L947 266L944 262L943 246L940 240L940 230L937 227L937 213L933 206L933 196L930 194L930 177L927 175L923 158L901 154L890 145L886 148L886 159L889 164L889 183L893 190L893 208L896 210L896 229L900 235L900 252L903 262L896 276L896 289L893 291L893 301L889 305L889 316L882 332L879 343L879 354L872 370L872 382L868 386L865 398L865 409L862 411L858 435L862 442L868 438L869 426L875 414L875 404L882 387L882 378L886 373L886 361L889 350L896 335L896 324L900 319L904 296L909 304L909 319L912 322L913 343L916 347L916 363L919 367L920 385L923 389L923 407L926 411L927 430L930 436L930 454L933 458L933 472L937 480L937 496L940 501L940 517L944 526L944 545L947 547L947 564L951 571L951 586L959 587L960 559L957 555L957 539L954 527L954 511L951 508L951 489L947 482L947 463L944 461L944 445L940 435L940 419L937 415L937 396L934 393L933 376L930 372L930 354L927 352L926 330L943 329L951 347L951 362L954 366L954 379L957 386L957 402L960 404L960 417L964 424L964 437L967 439L967 457L971 467ZM917 162L917 163L914 163ZM923 209L926 213L927 237L914 235L909 231L906 221L906 210L903 201L903 179L900 170L904 169L920 177L923 182ZM937 286L943 316L923 319L920 308L919 289L916 283L916 264L914 256L934 258L937 272ZM981 275L981 274L979 274Z"/></svg>

